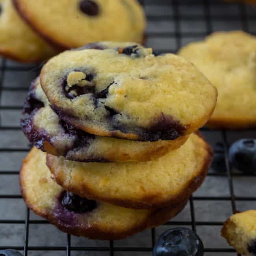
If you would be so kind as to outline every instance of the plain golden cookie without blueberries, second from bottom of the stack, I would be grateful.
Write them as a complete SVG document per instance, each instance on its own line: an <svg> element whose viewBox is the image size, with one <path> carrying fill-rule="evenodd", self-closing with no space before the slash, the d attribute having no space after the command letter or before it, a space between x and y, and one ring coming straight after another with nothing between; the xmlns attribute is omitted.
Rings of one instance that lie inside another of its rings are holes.
<svg viewBox="0 0 256 256"><path fill-rule="evenodd" d="M178 150L145 163L78 163L47 154L56 182L81 197L128 208L160 208L186 200L204 181L213 151L191 134Z"/></svg>

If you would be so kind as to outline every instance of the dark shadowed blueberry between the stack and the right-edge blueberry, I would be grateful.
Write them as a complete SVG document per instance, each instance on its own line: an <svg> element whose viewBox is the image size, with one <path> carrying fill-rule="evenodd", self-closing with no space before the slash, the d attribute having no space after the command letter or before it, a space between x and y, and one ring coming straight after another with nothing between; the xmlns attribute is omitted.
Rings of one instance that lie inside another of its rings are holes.
<svg viewBox="0 0 256 256"><path fill-rule="evenodd" d="M214 159L211 169L216 172L226 172L224 146L221 142L217 142L214 146Z"/></svg>

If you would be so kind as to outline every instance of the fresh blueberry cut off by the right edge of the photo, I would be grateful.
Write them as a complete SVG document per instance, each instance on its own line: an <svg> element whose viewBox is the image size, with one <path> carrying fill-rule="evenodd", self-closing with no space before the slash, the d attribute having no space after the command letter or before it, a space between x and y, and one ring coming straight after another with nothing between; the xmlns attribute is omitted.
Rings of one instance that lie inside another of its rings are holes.
<svg viewBox="0 0 256 256"><path fill-rule="evenodd" d="M232 165L246 174L256 173L256 139L240 139L229 150Z"/></svg>

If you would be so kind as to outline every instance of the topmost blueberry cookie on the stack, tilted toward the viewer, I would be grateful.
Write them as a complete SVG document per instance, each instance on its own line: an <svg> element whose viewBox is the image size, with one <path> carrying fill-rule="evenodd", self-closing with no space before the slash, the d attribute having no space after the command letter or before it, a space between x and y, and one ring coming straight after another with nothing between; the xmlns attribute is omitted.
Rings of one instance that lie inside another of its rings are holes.
<svg viewBox="0 0 256 256"><path fill-rule="evenodd" d="M217 98L193 64L141 45L66 51L45 64L41 85L52 109L76 128L139 141L198 130Z"/></svg>

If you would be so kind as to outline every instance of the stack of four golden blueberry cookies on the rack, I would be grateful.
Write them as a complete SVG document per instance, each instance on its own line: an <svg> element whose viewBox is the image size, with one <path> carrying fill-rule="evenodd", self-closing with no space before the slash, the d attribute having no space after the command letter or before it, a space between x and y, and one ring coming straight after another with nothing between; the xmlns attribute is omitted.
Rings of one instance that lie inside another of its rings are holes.
<svg viewBox="0 0 256 256"><path fill-rule="evenodd" d="M26 204L92 239L165 223L207 174L213 153L195 132L216 98L193 64L135 43L92 43L50 59L21 121L35 145L20 172Z"/></svg>

